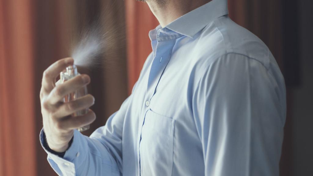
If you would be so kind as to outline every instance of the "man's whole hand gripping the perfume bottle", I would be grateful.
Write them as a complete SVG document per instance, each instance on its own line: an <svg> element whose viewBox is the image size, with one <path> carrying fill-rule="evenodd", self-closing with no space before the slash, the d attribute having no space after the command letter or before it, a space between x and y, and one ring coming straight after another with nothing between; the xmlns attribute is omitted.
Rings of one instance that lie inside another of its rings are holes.
<svg viewBox="0 0 313 176"><path fill-rule="evenodd" d="M49 147L56 152L64 152L73 137L73 129L88 125L95 120L91 110L83 116L71 116L76 111L88 109L94 104L90 94L74 101L63 102L64 96L90 83L88 75L78 75L63 84L55 85L55 79L67 66L73 65L72 58L64 58L50 65L44 71L40 90L41 113L44 132Z"/></svg>

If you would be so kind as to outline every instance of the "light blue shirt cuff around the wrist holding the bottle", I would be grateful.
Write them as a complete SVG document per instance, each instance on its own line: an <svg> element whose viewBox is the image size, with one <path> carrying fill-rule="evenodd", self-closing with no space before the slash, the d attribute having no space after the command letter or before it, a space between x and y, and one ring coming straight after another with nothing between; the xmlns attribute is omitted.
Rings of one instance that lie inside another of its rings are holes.
<svg viewBox="0 0 313 176"><path fill-rule="evenodd" d="M39 138L42 148L44 148L44 151L48 154L47 159L49 164L57 173L73 175L75 168L80 167L86 158L88 144L87 141L84 140L84 135L77 130L74 130L73 142L66 150L63 158L49 152L48 149L44 147L44 129L40 131Z"/></svg>

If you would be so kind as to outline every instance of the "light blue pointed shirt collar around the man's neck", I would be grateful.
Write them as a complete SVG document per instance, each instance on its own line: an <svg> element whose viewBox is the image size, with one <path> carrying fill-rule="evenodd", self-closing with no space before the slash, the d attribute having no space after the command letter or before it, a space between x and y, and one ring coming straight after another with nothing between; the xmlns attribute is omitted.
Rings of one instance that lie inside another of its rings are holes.
<svg viewBox="0 0 313 176"><path fill-rule="evenodd" d="M161 25L157 26L149 32L149 37L151 40L155 40L157 39L158 31L166 31L168 33L168 29L170 29L178 34L193 38L195 34L210 22L227 14L227 0L213 0L177 18L164 28Z"/></svg>

